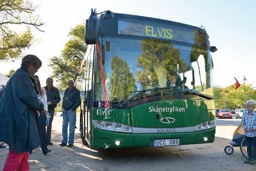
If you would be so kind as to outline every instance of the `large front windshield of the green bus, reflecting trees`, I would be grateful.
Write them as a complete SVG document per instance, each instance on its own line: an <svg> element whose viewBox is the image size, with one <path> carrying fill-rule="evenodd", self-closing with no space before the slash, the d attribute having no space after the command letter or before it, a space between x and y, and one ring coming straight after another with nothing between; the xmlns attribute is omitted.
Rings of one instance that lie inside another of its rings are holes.
<svg viewBox="0 0 256 171"><path fill-rule="evenodd" d="M108 51L106 41L110 42ZM150 38L116 37L99 39L99 44L111 103L122 103L138 91L163 87L212 95L211 55L202 47ZM94 100L103 101L101 69L98 58L95 60ZM210 94L206 91L209 88Z"/></svg>

